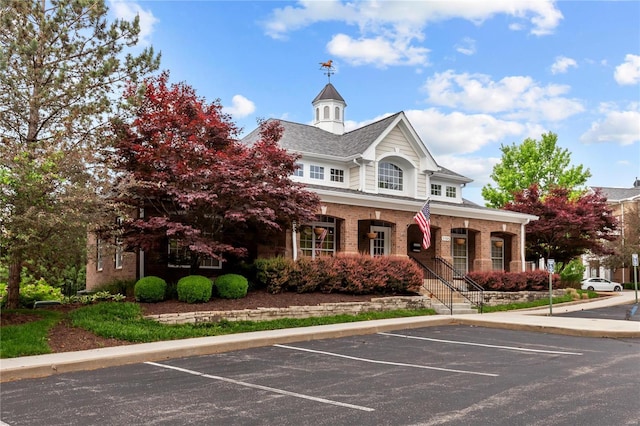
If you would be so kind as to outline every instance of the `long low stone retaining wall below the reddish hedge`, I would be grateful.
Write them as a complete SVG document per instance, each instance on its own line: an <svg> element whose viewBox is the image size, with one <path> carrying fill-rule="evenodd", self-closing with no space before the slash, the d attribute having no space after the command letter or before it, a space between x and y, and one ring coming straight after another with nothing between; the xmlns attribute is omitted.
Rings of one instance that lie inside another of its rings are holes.
<svg viewBox="0 0 640 426"><path fill-rule="evenodd" d="M147 315L145 318L163 324L197 324L227 321L269 321L282 318L310 318L331 315L355 315L361 312L397 309L431 308L431 299L423 296L397 296L371 299L371 302L322 303L316 306L288 308L239 309L234 311L202 311L177 314Z"/></svg>

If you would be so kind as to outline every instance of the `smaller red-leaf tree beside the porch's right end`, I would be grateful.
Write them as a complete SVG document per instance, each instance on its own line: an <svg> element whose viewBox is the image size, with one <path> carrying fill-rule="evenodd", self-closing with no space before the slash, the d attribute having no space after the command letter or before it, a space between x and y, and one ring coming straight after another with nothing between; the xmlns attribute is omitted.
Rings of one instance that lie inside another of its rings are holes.
<svg viewBox="0 0 640 426"><path fill-rule="evenodd" d="M611 254L606 241L617 238L617 219L599 191L574 197L570 189L554 187L543 198L533 184L504 208L539 217L526 228L529 259L567 263L586 252Z"/></svg>

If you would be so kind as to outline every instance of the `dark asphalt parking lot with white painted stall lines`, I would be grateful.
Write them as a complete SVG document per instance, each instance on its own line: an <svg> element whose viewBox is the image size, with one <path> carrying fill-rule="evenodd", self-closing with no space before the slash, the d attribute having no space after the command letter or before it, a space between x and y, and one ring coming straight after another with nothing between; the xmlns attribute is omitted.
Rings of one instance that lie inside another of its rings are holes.
<svg viewBox="0 0 640 426"><path fill-rule="evenodd" d="M640 340L427 327L3 383L7 425L635 424Z"/></svg>

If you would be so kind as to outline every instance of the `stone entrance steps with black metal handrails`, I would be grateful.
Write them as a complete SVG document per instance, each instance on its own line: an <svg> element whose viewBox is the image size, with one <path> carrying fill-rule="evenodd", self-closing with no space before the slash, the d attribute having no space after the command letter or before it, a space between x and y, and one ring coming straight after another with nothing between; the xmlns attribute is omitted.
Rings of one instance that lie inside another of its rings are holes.
<svg viewBox="0 0 640 426"><path fill-rule="evenodd" d="M413 258L424 270L424 287L429 295L442 303L453 314L455 296L460 295L482 313L483 290L475 281L457 271L444 259L436 257L431 265Z"/></svg>

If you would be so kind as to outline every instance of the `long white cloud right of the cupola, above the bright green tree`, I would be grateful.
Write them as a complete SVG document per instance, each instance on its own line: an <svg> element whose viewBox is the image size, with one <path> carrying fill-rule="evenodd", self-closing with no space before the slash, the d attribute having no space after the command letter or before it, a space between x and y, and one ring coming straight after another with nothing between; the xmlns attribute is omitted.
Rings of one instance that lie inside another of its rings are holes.
<svg viewBox="0 0 640 426"><path fill-rule="evenodd" d="M563 120L584 110L562 95L569 86L535 82L531 77L509 76L493 81L485 74L456 74L452 70L427 79L427 102L466 111L504 114L503 118Z"/></svg>

